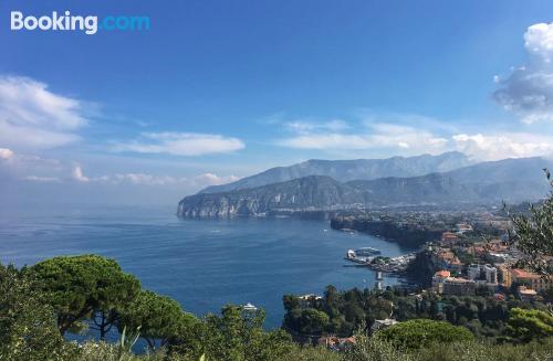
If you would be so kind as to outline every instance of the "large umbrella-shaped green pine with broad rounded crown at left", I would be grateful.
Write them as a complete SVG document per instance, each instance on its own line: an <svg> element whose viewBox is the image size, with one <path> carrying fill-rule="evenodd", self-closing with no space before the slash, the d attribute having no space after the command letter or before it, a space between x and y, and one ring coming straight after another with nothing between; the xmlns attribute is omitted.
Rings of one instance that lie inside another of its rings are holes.
<svg viewBox="0 0 553 361"><path fill-rule="evenodd" d="M140 289L138 279L124 273L114 259L97 255L54 257L38 263L30 272L49 295L62 335L92 319L91 328L104 339L121 309Z"/></svg>

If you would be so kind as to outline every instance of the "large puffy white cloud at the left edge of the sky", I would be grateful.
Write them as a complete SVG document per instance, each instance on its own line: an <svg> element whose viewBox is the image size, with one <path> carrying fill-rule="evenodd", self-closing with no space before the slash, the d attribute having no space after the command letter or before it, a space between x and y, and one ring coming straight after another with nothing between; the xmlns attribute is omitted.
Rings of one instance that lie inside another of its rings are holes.
<svg viewBox="0 0 553 361"><path fill-rule="evenodd" d="M83 103L54 94L43 83L0 76L0 144L18 148L55 148L77 141L87 124Z"/></svg>

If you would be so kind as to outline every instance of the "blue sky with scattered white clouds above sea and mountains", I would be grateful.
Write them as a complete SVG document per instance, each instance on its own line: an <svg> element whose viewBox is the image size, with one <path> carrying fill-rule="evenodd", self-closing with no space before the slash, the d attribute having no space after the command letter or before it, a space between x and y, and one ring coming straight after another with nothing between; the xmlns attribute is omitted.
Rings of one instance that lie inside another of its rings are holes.
<svg viewBox="0 0 553 361"><path fill-rule="evenodd" d="M11 31L15 10L150 29ZM14 202L176 202L310 158L547 156L551 14L549 1L4 0L0 182Z"/></svg>

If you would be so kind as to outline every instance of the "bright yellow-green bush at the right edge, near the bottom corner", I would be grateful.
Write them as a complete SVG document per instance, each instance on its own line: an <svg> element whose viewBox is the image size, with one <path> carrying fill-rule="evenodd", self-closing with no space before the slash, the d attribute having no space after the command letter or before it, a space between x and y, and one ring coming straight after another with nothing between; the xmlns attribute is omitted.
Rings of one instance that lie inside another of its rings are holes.
<svg viewBox="0 0 553 361"><path fill-rule="evenodd" d="M553 316L538 309L511 309L508 332L514 339L528 342L553 336Z"/></svg>

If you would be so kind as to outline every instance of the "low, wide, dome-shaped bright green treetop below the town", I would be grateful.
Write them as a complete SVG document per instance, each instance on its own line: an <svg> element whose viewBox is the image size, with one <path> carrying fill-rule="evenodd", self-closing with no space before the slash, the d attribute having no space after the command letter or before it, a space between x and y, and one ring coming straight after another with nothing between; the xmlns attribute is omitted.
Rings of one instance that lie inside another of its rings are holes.
<svg viewBox="0 0 553 361"><path fill-rule="evenodd" d="M473 339L472 333L463 327L427 319L397 323L376 335L394 344L408 349L419 349L435 342L451 343Z"/></svg>

